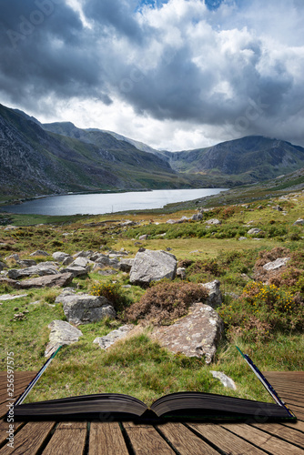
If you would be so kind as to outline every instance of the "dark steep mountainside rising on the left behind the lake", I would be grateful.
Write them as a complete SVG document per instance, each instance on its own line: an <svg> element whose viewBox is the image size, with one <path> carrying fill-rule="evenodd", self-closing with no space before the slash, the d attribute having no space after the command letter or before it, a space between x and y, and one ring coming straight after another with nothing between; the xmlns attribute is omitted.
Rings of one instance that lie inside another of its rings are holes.
<svg viewBox="0 0 304 455"><path fill-rule="evenodd" d="M88 132L86 139L79 130L76 138L40 125L0 105L1 195L191 186L166 160L108 133ZM62 128L76 127L64 124Z"/></svg>

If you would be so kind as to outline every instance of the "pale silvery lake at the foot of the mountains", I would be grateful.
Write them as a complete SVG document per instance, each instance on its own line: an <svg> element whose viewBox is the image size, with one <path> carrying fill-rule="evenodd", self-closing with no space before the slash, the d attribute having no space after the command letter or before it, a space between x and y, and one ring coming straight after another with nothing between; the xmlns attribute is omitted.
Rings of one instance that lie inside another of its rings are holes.
<svg viewBox="0 0 304 455"><path fill-rule="evenodd" d="M102 193L39 197L23 204L2 207L11 213L35 215L102 215L128 210L162 208L167 204L216 195L226 188L156 189L127 193Z"/></svg>

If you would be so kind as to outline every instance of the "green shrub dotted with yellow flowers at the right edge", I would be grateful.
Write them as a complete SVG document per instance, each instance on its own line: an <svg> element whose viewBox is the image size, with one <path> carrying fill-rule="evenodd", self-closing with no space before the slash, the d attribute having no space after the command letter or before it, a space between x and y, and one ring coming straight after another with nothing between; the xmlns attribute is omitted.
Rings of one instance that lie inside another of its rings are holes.
<svg viewBox="0 0 304 455"><path fill-rule="evenodd" d="M277 330L304 328L304 306L299 295L274 284L251 281L238 299L218 312L228 339L241 335L248 341L263 341L271 339Z"/></svg>

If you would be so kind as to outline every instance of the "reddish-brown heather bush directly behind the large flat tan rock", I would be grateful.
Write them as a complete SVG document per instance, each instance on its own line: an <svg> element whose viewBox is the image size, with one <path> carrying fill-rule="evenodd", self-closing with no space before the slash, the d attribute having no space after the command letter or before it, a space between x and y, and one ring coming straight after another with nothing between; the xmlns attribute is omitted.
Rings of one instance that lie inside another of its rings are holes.
<svg viewBox="0 0 304 455"><path fill-rule="evenodd" d="M192 303L207 297L207 289L198 284L162 280L148 288L139 302L127 309L126 317L166 324L186 315Z"/></svg>

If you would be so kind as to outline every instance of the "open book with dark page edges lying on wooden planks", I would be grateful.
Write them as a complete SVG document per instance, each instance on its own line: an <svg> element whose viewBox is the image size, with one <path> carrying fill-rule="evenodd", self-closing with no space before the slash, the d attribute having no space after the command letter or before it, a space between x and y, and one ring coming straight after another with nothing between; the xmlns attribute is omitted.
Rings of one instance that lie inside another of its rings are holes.
<svg viewBox="0 0 304 455"><path fill-rule="evenodd" d="M27 388L15 403L15 420L296 420L248 356L241 354L275 403L204 392L177 392L157 399L150 408L140 399L117 393L20 404L28 393ZM35 379L33 381L35 383Z"/></svg>

